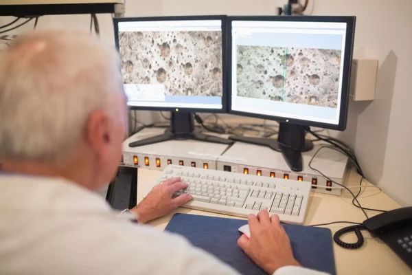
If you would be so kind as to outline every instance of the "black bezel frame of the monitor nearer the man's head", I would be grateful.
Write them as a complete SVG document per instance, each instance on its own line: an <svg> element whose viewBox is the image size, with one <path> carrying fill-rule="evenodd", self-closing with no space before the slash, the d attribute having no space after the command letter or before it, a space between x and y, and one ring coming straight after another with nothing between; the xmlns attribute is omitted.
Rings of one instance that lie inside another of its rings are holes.
<svg viewBox="0 0 412 275"><path fill-rule="evenodd" d="M226 15L204 15L204 16L173 16L173 17L120 17L113 18L115 31L115 46L119 54L119 23L130 21L204 21L204 20L220 20L222 21L222 108L220 109L205 109L205 108L187 108L187 107L150 107L150 106L130 106L131 110L146 110L146 111L176 111L179 112L196 112L196 113L227 113L227 16Z"/></svg>

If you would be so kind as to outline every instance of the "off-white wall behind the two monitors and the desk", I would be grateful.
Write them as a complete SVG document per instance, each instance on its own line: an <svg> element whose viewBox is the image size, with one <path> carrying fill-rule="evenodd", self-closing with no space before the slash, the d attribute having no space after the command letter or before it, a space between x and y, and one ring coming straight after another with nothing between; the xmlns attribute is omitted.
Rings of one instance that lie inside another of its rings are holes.
<svg viewBox="0 0 412 275"><path fill-rule="evenodd" d="M285 0L128 0L126 16L274 14ZM380 62L374 102L351 102L347 131L334 133L354 146L367 179L393 199L412 206L412 1L310 0L313 15L356 15L355 56ZM99 15L102 39L113 44L109 15ZM0 24L8 19L0 19ZM44 17L38 27L62 25L89 30L89 17ZM30 28L26 28L30 29ZM24 30L24 29L23 29ZM22 31L22 30L19 30ZM159 115L139 114L145 121Z"/></svg>

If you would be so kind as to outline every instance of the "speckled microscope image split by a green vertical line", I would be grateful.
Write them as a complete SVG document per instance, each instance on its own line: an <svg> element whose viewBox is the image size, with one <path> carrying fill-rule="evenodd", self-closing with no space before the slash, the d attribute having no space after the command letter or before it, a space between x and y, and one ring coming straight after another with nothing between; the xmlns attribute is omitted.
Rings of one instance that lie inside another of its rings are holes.
<svg viewBox="0 0 412 275"><path fill-rule="evenodd" d="M336 108L341 50L239 45L238 96Z"/></svg>

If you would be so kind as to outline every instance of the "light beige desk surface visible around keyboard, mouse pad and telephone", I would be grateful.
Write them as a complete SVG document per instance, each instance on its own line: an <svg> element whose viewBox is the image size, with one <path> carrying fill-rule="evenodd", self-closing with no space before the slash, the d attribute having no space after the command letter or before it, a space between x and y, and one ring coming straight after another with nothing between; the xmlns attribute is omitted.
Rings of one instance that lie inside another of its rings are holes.
<svg viewBox="0 0 412 275"><path fill-rule="evenodd" d="M148 192L152 182L159 177L160 173L161 172L157 170L139 168L137 179L137 203L139 203L143 196ZM347 185L355 186L359 184L359 181L360 177L352 172L349 178L349 184ZM366 184L370 185L364 179L363 185ZM362 203L362 206L367 208L392 210L400 207L398 203L377 188L363 189L359 201ZM159 230L164 230L173 214L176 212L213 217L231 217L225 214L178 208L172 214L151 221L149 224ZM378 213L367 211L367 214L371 217ZM243 219L240 217L231 218ZM343 192L341 197L311 193L308 214L304 224L329 223L332 221L363 222L364 220L365 216L362 211L352 205L352 197L349 192ZM347 225L348 224L345 223L339 223L325 227L330 228L332 233L334 233ZM336 270L338 274L412 274L409 267L407 267L407 265L403 263L398 256L387 247L387 245L382 243L382 241L372 238L370 234L365 231L363 231L363 236L365 237L365 244L359 250L345 250L334 244ZM343 237L343 240L356 241L356 237L354 234L348 234Z"/></svg>

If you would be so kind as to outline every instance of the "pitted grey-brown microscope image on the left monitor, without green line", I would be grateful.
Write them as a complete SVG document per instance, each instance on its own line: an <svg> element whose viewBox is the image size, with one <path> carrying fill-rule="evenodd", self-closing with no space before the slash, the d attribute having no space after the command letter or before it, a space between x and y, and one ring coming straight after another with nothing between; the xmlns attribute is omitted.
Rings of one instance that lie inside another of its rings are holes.
<svg viewBox="0 0 412 275"><path fill-rule="evenodd" d="M167 96L222 96L222 33L120 32L124 84L163 85Z"/></svg>

